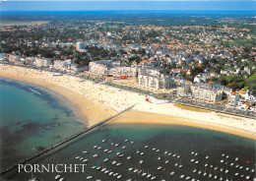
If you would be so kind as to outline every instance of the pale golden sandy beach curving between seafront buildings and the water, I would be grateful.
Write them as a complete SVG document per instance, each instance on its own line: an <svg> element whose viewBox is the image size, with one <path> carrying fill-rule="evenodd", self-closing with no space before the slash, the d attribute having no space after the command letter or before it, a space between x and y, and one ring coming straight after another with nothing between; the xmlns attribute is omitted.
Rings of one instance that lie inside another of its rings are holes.
<svg viewBox="0 0 256 181"><path fill-rule="evenodd" d="M83 122L96 122L137 104L132 110L109 123L175 124L217 130L256 140L254 119L229 116L216 112L186 110L172 103L154 104L145 101L145 95L111 88L91 81L79 82L72 76L52 76L49 72L0 65L0 76L29 82L61 93L79 107L86 117Z"/></svg>

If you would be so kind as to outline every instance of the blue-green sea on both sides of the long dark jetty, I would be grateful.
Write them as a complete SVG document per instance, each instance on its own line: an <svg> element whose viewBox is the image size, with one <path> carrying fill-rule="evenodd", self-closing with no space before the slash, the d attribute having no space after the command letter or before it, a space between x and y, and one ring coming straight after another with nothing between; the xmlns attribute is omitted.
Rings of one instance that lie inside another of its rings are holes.
<svg viewBox="0 0 256 181"><path fill-rule="evenodd" d="M0 80L1 168L48 147L86 125L52 92L14 80ZM104 124L28 164L75 165L75 172L18 170L2 180L253 180L255 141L196 127ZM58 179L55 179L57 177Z"/></svg>

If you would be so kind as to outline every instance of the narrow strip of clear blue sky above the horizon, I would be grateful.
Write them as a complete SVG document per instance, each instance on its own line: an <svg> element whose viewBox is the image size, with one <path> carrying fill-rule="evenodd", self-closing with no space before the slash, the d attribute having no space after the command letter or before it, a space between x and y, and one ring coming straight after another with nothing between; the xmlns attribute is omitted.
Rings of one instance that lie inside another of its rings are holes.
<svg viewBox="0 0 256 181"><path fill-rule="evenodd" d="M0 0L0 11L90 11L90 10L177 10L177 11L255 11L254 0Z"/></svg>

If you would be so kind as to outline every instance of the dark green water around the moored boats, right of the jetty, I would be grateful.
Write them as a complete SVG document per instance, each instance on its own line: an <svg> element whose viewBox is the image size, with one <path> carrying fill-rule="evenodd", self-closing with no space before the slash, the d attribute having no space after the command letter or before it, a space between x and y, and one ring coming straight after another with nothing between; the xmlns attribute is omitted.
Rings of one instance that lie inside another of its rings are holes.
<svg viewBox="0 0 256 181"><path fill-rule="evenodd" d="M129 142L125 142L126 139ZM102 140L106 141L102 143ZM135 143L131 144L131 141ZM112 146L112 143L119 144L119 146ZM94 149L95 146L101 147L101 149ZM126 146L126 149L122 149L123 146ZM149 148L146 149L145 146L149 146ZM153 151L154 148L156 148L156 151ZM112 152L105 152L105 149ZM83 153L83 151L88 151L88 153ZM136 153L137 151L139 152ZM124 154L124 156L119 157L116 155L117 152ZM141 152L144 152L144 154L142 155ZM170 155L168 155L169 152ZM192 154L192 152L194 153ZM198 155L195 155L196 152ZM103 125L70 145L62 147L58 151L51 151L34 160L32 164L83 164L86 162L75 157L88 158L85 172L60 174L66 180L74 181L86 180L86 177L90 175L94 177L93 180L118 180L116 177L109 176L109 173L104 174L100 170L93 169L92 167L95 165L101 168L105 167L110 172L121 174L122 178L120 180L129 178L132 180L150 180L142 176L143 172L156 176L156 180L161 178L181 180L180 175L182 174L185 175L185 178L189 176L191 179L200 180L215 180L213 178L215 175L219 178L222 176L224 180L226 178L240 180L239 177L234 176L236 172L239 172L238 176L242 174L250 176L250 178L254 176L255 173L251 172L255 165L254 152L255 142L253 140L221 132L173 125L115 124ZM94 157L94 154L98 154L98 157ZM174 154L176 155L173 156ZM129 155L132 158L127 160ZM209 155L208 159L206 158L207 155ZM103 160L106 157L109 161L104 162ZM239 159L235 160L235 157L239 157ZM191 159L195 160L191 162ZM221 162L222 159L224 159L224 162ZM120 162L121 165L113 165L113 160ZM144 160L144 163L140 164L140 160ZM165 163L166 160L169 162ZM196 160L199 161L198 164L195 163ZM249 163L246 161L249 161ZM233 166L230 166L231 162L234 163ZM209 164L207 167L205 167L206 163ZM182 167L179 168L179 165L182 165ZM213 168L210 167L211 165L213 165ZM243 168L236 168L235 165L243 166ZM160 169L158 169L159 166L161 166ZM142 173L129 171L130 167L142 170ZM249 170L246 170L246 167ZM221 168L224 168L224 170L221 171ZM193 173L194 169L197 169L196 173ZM203 173L206 172L208 175L198 174L199 170ZM225 170L228 170L228 172L225 173ZM170 175L172 171L175 172L174 175ZM213 175L212 177L209 177L210 173ZM56 172L33 173L34 176L43 180L53 180L57 174ZM9 178L13 180L26 180L30 176L31 174L25 172L9 174Z"/></svg>

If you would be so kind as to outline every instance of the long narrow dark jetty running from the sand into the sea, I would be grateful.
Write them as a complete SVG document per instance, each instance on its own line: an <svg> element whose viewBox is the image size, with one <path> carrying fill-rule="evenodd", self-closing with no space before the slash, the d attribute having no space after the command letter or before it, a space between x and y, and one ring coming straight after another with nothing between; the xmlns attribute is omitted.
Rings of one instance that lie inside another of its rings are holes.
<svg viewBox="0 0 256 181"><path fill-rule="evenodd" d="M108 118L106 118L106 119L104 119L104 120L102 120L102 121L96 123L96 124L93 125L93 126L90 126L90 127L88 127L88 128L85 128L84 130L82 130L82 131L80 131L80 132L78 132L78 133L76 133L76 134L74 134L74 135L71 135L70 137L67 137L67 138L65 138L65 139L62 140L62 141L60 141L60 142L58 142L58 143L56 143L56 144L53 144L53 145L51 145L51 146L48 147L48 148L43 149L42 151L35 152L35 153L32 154L31 156L29 156L29 157L27 157L27 158L25 158L25 159L23 159L23 160L21 160L21 161L19 161L19 162L16 162L16 163L14 163L13 165L11 165L11 166L9 166L9 167L7 167L7 168L1 169L1 170L0 170L0 175L3 175L4 173L7 173L7 172L13 170L14 168L18 167L19 164L24 164L24 163L26 163L26 162L28 162L28 161L31 161L32 159L34 159L34 158L36 158L36 157L38 157L38 156L40 156L40 155L46 153L47 151L52 151L53 149L56 149L56 148L58 148L58 147L60 147L60 146L62 146L62 145L64 145L64 144L66 144L66 143L68 143L68 142L70 142L70 141L76 139L77 137L79 137L79 136L81 136L81 135L83 135L83 134L85 134L85 133L87 133L87 132L89 132L89 131L95 129L96 127L98 127L98 126L100 126L100 125L106 123L107 121L109 121L109 120L115 118L116 116L119 116L120 114L126 112L127 110L133 108L135 105L136 105L136 104L134 104L134 105L132 105L132 106L130 106L130 107L127 107L126 109L124 109L124 110L118 112L117 114L112 115L112 116L110 116L110 117L108 117Z"/></svg>

